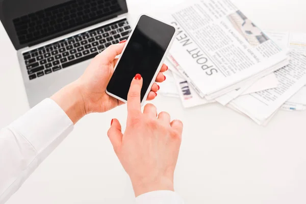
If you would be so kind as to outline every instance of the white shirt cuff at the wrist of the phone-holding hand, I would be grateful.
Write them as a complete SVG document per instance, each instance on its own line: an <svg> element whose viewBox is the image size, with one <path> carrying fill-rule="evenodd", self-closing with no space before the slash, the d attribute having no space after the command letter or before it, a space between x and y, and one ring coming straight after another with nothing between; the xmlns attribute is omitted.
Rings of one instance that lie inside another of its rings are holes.
<svg viewBox="0 0 306 204"><path fill-rule="evenodd" d="M73 130L73 122L54 100L46 98L10 127L27 139L39 154L63 140Z"/></svg>

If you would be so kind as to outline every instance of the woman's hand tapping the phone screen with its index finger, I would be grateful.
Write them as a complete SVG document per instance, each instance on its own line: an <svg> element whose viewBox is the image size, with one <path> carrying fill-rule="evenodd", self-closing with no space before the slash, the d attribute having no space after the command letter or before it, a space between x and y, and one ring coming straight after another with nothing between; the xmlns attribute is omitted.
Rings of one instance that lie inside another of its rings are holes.
<svg viewBox="0 0 306 204"><path fill-rule="evenodd" d="M129 174L135 196L156 190L173 191L173 174L179 156L183 123L170 115L157 115L154 105L140 107L142 78L133 79L127 96L124 134L117 119L108 136L123 168Z"/></svg>

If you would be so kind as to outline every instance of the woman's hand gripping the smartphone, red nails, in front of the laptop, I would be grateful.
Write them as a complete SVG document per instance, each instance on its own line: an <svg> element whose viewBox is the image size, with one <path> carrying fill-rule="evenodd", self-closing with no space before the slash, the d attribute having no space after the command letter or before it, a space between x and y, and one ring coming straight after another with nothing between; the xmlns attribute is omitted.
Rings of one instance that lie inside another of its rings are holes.
<svg viewBox="0 0 306 204"><path fill-rule="evenodd" d="M125 41L109 46L91 61L80 79L51 97L73 123L88 113L106 112L123 104L122 101L108 95L105 91L118 60L115 57L121 54L124 44ZM163 82L166 79L162 72L167 69L168 67L163 65L156 82ZM158 90L159 86L154 83L147 100L154 99Z"/></svg>

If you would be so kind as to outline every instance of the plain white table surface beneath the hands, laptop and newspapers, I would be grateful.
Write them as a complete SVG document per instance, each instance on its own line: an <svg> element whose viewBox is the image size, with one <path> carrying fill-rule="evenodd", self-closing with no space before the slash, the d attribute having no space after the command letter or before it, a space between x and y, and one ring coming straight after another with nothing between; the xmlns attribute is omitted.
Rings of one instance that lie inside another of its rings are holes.
<svg viewBox="0 0 306 204"><path fill-rule="evenodd" d="M130 0L130 15L184 0ZM306 33L304 0L233 0L259 27ZM0 25L0 127L29 110L15 49ZM306 112L279 111L262 127L218 104L183 109L158 96L159 111L184 122L175 190L186 203L306 203ZM126 107L83 118L8 204L133 203L129 177L106 135ZM124 126L124 125L123 125Z"/></svg>

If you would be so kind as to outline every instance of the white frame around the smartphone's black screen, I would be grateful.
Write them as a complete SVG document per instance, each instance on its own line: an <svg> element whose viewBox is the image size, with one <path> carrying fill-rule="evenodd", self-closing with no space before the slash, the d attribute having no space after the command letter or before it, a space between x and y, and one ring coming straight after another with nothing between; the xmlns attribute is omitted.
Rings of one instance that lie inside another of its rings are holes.
<svg viewBox="0 0 306 204"><path fill-rule="evenodd" d="M169 53L169 49L170 49L172 43L174 42L174 39L175 39L175 37L176 37L176 32L177 32L176 28L175 28L173 25L171 25L171 24L169 24L169 23L167 23L167 22L165 22L165 21L163 21L163 20L160 20L160 19L158 19L158 18L156 18L156 17L149 16L149 15L147 15L147 14L141 14L141 15L139 16L138 20L137 20L136 25L138 24L138 22L139 22L139 20L140 20L140 18L141 18L142 16L147 16L147 17L150 17L150 18L154 18L154 19L156 19L156 20L158 20L158 21L161 21L161 22L163 22L163 23L165 23L165 24L167 24L167 25L170 25L171 27L174 28L174 34L173 34L173 36L172 36L172 38L171 38L170 43L168 44L168 47L167 47L167 49L166 49L166 52L164 53L163 58L162 58L162 60L161 60L161 62L160 62L160 64L159 64L159 66L158 66L158 68L157 68L157 70L156 70L156 72L155 72L155 74L154 74L154 77L152 78L152 81L151 81L151 83L150 83L150 85L149 85L149 87L148 87L148 89L147 89L147 91L146 91L146 93L145 93L145 95L144 95L142 101L141 101L141 106L144 105L144 103L145 103L145 101L146 101L146 99L147 99L147 97L148 97L148 94L149 94L149 92L151 91L151 87L152 87L152 85L154 84L154 82L155 82L155 80L156 80L156 78L157 78L157 75L158 75L158 73L160 72L160 70L161 70L161 68L162 68L162 66L163 66L164 61L166 60L166 57L167 57L167 55L168 55L168 53ZM121 59L121 56L124 54L124 50L125 50L127 44L129 44L129 41L130 41L130 39L131 39L131 37L132 37L132 35L133 35L135 29L136 29L136 26L135 26L135 28L133 29L133 31L131 32L129 38L126 40L126 43L125 43L125 45L124 45L124 47L123 47L123 49L122 49L122 53L121 53L121 55L119 56L118 61L117 61L116 65L115 65L115 67L114 67L114 71L116 70L117 65L119 64L120 59ZM131 79L131 81L132 81L132 79ZM123 98L121 98L121 97L119 97L119 96L117 96L117 95L115 95L115 94L109 92L107 89L106 89L106 93L107 93L108 95L110 95L110 96L112 96L112 97L118 99L118 100L123 101L124 103L127 103L127 100L125 100L125 99L123 99Z"/></svg>

